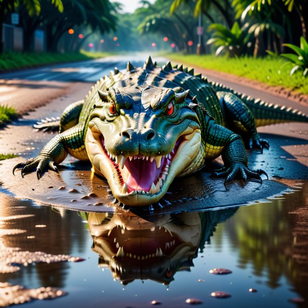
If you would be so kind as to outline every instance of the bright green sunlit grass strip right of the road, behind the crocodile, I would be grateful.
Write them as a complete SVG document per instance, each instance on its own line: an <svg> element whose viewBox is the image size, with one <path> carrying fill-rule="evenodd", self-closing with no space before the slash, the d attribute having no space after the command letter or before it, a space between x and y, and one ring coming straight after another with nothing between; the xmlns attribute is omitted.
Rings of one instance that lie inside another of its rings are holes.
<svg viewBox="0 0 308 308"><path fill-rule="evenodd" d="M185 63L189 66L197 66L204 69L215 70L245 77L251 80L258 80L274 86L283 86L296 90L302 94L308 94L308 78L302 76L301 72L290 77L291 65L286 65L283 59L279 58L258 58L242 57L228 59L227 57L215 57L213 55L165 55L176 63Z"/></svg>

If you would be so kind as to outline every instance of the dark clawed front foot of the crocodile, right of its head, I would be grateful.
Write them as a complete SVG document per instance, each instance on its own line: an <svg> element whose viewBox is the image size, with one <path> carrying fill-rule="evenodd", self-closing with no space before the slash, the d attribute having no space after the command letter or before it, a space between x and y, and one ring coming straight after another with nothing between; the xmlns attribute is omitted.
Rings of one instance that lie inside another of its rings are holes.
<svg viewBox="0 0 308 308"><path fill-rule="evenodd" d="M269 179L267 173L262 169L252 170L243 164L236 163L230 165L229 167L223 167L219 170L214 170L211 177L226 178L224 185L227 189L227 184L231 183L235 179L242 180L244 186L246 185L248 179L252 181L258 181L262 184L262 174L266 175L267 179Z"/></svg>

